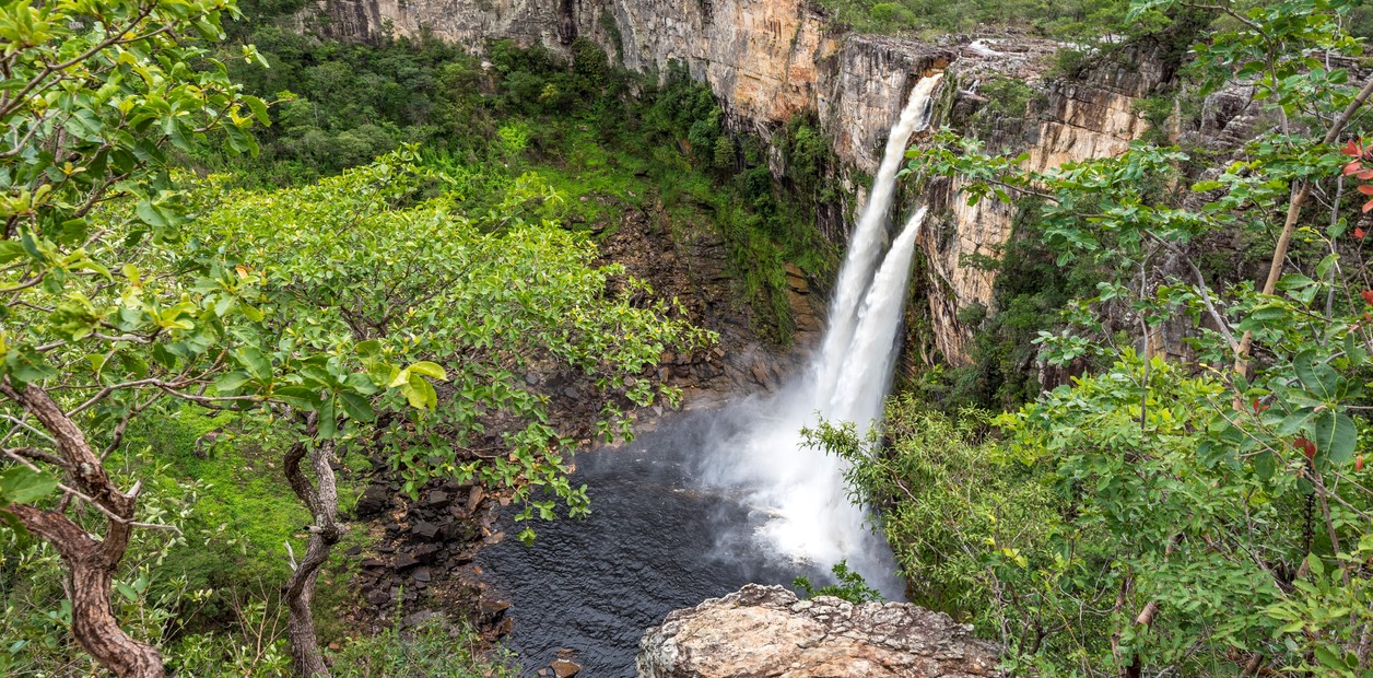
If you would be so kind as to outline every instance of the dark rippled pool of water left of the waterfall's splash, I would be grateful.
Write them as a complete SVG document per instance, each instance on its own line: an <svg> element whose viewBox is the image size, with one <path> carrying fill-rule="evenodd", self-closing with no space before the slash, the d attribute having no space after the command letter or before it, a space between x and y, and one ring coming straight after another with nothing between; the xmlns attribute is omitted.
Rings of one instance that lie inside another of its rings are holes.
<svg viewBox="0 0 1373 678"><path fill-rule="evenodd" d="M748 582L829 581L757 543L766 515L743 493L700 487L697 464L722 439L718 425L706 413L677 414L627 447L581 454L575 480L589 486L590 517L535 523L533 546L511 537L483 549L478 564L511 601L507 645L526 673L568 648L581 675L633 677L640 637L673 609ZM508 517L503 528L519 531Z"/></svg>

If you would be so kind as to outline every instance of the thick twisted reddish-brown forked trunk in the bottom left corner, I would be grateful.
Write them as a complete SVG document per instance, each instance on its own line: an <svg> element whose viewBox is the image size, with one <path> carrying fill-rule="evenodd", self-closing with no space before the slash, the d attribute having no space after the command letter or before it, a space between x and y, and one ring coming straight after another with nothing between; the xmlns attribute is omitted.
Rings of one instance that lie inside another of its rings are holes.
<svg viewBox="0 0 1373 678"><path fill-rule="evenodd" d="M88 534L80 524L56 511L15 504L5 511L25 528L52 543L67 565L71 597L71 634L100 666L119 678L162 678L162 655L157 648L133 640L119 629L110 604L114 571L124 560L133 531L137 491L124 494L100 465L81 430L41 388L14 388L0 380L0 395L25 408L51 434L60 454L58 464L69 480L107 517L103 538Z"/></svg>

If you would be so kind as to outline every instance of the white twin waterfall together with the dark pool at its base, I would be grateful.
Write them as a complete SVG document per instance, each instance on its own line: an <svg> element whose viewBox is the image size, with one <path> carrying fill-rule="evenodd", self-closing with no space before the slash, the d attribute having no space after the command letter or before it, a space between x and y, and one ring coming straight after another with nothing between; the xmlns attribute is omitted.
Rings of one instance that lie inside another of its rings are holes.
<svg viewBox="0 0 1373 678"><path fill-rule="evenodd" d="M820 417L864 431L881 417L925 210L884 247L888 215L941 78L916 84L891 129L806 372L776 395L676 414L622 450L579 456L590 517L540 523L529 548L505 539L482 550L486 581L511 600L507 644L526 667L571 649L584 675L633 677L638 638L667 612L748 582L829 582L840 560L903 600L890 549L849 498L843 461L803 445L800 431Z"/></svg>

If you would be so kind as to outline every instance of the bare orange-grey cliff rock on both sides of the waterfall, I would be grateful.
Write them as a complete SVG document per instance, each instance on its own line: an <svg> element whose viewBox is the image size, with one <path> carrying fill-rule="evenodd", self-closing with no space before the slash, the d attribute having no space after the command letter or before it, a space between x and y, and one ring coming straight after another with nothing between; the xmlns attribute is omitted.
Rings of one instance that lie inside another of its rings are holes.
<svg viewBox="0 0 1373 678"><path fill-rule="evenodd" d="M846 165L839 178L850 189L853 170L876 170L880 144L910 88L934 70L951 75L946 88L1011 77L1039 89L1045 96L1020 124L1028 133L1008 145L1028 152L1027 165L1039 170L1123 151L1145 129L1135 102L1164 78L1159 69L1111 67L1072 82L1045 82L1050 44L935 45L842 34L807 0L321 0L317 16L317 30L334 37L427 32L474 52L492 38L566 49L588 37L640 73L680 63L711 86L736 125L763 140L792 115L816 111ZM962 95L947 93L949 100ZM960 362L969 334L957 313L972 303L990 306L994 283L994 273L964 264L971 254L997 253L1011 236L1013 209L991 202L969 207L956 185L932 187L923 198L942 215L927 224L920 243L935 343ZM824 231L844 237L839 229Z"/></svg>

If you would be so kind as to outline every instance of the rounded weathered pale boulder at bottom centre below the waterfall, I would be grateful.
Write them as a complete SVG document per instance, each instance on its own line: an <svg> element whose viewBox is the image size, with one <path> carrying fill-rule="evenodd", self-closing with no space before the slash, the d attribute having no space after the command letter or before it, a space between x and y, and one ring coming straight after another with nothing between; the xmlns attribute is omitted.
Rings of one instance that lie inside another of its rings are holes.
<svg viewBox="0 0 1373 678"><path fill-rule="evenodd" d="M748 585L667 615L637 659L643 678L973 678L1001 675L995 645L906 603L798 600Z"/></svg>

